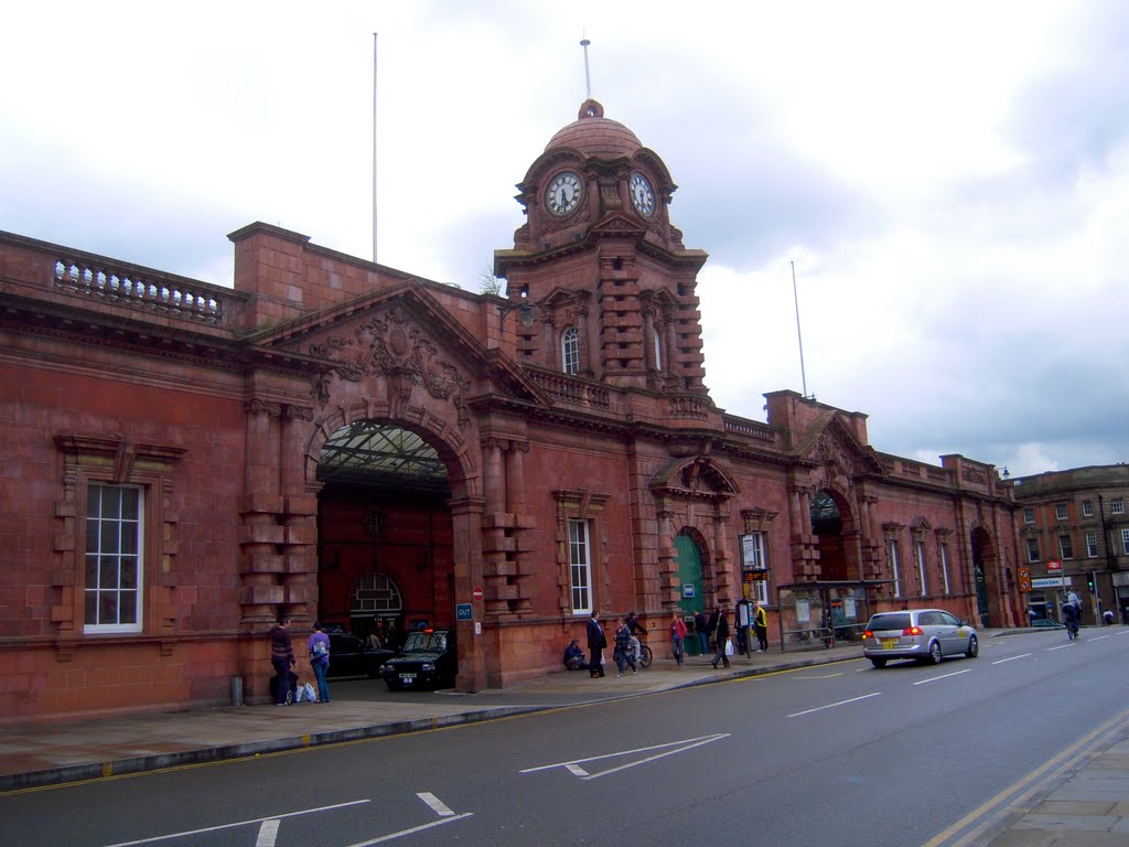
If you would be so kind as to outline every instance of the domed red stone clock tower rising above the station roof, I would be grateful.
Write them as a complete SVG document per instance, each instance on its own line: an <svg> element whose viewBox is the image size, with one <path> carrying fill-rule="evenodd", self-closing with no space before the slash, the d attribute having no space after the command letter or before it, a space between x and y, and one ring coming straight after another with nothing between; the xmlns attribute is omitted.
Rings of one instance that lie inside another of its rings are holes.
<svg viewBox="0 0 1129 847"><path fill-rule="evenodd" d="M517 185L527 217L495 274L523 364L620 387L706 394L697 274L663 160L588 99ZM505 328L504 328L505 329Z"/></svg>

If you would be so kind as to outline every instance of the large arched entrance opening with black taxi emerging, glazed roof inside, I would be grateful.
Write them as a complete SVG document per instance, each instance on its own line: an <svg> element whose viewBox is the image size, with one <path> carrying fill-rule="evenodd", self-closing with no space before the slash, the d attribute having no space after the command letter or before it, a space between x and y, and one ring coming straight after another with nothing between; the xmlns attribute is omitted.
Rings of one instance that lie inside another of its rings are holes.
<svg viewBox="0 0 1129 847"><path fill-rule="evenodd" d="M317 465L318 617L397 646L409 629L453 627L450 483L439 452L411 429L339 427Z"/></svg>

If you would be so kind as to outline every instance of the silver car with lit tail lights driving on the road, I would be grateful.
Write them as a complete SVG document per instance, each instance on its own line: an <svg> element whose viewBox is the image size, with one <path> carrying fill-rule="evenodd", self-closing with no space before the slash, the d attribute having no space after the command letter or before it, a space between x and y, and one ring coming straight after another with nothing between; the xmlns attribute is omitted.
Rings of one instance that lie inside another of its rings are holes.
<svg viewBox="0 0 1129 847"><path fill-rule="evenodd" d="M863 632L863 655L875 667L896 658L939 664L945 656L980 653L977 630L944 609L903 609L879 612Z"/></svg>

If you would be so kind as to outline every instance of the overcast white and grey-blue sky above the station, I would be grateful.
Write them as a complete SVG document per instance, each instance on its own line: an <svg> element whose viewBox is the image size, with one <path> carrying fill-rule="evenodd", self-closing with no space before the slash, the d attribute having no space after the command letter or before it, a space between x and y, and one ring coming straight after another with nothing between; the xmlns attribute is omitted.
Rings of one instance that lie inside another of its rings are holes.
<svg viewBox="0 0 1129 847"><path fill-rule="evenodd" d="M586 96L680 185L707 384L1013 475L1129 459L1129 3L12 5L0 229L231 283L262 220L478 290ZM795 265L803 333L797 341Z"/></svg>

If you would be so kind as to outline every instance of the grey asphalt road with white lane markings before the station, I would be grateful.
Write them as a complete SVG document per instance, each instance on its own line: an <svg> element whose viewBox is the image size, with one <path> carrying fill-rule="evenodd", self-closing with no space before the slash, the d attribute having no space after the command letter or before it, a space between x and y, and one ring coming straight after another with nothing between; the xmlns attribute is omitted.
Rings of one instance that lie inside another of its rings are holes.
<svg viewBox="0 0 1129 847"><path fill-rule="evenodd" d="M1129 696L1129 629L1015 634L0 798L11 844L920 847ZM12 839L11 833L19 833Z"/></svg>

